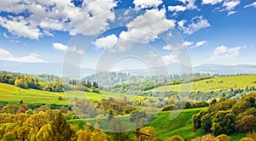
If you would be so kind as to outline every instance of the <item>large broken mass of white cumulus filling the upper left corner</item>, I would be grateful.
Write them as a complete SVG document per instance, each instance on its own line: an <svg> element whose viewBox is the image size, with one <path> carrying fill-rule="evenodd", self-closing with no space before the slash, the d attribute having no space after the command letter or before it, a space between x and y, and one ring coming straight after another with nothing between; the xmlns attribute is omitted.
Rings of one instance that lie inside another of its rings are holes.
<svg viewBox="0 0 256 141"><path fill-rule="evenodd" d="M0 12L9 15L0 17L0 25L14 36L37 40L52 36L51 31L94 35L108 29L108 20L115 18L111 10L116 5L114 0L84 1L79 7L70 0L9 0L1 2ZM20 16L14 18L13 14ZM104 15L98 17L99 14Z"/></svg>

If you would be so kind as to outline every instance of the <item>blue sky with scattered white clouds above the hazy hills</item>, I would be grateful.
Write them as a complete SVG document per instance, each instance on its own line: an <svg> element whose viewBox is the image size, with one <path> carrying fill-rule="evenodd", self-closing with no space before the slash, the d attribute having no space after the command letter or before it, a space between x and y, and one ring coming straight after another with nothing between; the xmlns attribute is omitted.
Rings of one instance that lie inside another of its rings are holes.
<svg viewBox="0 0 256 141"><path fill-rule="evenodd" d="M143 48L154 48L155 52L149 49L145 54L153 55L151 54L153 52L158 54L166 65L178 63L175 54L183 54L177 52L177 48L181 47L188 50L192 65L256 65L254 54L256 2L254 0L73 0L72 2L22 0L22 3L20 2L20 0L9 0L0 4L0 59L2 60L61 63L65 52L74 52L83 55L84 67L95 68L97 60L105 52L122 54L139 44ZM115 12L119 9L123 9L124 13L119 15ZM129 10L133 13L128 13ZM140 10L143 11L134 12ZM103 15L99 16L101 14ZM159 17L154 18L154 15ZM96 17L100 18L96 19ZM129 17L133 19L129 20ZM122 20L124 23L118 24ZM112 29L112 25L124 26ZM128 27L129 25L145 27L154 35ZM167 47L158 36L162 34L168 36L168 31L177 31L183 38L178 40L183 40L183 43L175 42ZM90 42L90 48L86 50L82 45L75 47L70 44L70 39L79 34L84 35L84 38L89 36L97 38ZM131 38L140 42L130 44ZM136 53L136 49L131 50ZM115 66L114 70L141 68L145 66L142 62L124 59L124 63L117 63L118 66Z"/></svg>

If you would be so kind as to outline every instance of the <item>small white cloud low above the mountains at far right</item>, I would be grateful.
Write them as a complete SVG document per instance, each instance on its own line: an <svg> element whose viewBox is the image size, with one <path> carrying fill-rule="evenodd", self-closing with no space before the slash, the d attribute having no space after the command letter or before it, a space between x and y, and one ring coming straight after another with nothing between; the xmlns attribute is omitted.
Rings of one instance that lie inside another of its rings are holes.
<svg viewBox="0 0 256 141"><path fill-rule="evenodd" d="M219 46L214 49L212 57L209 60L235 59L240 54L241 47L227 48Z"/></svg>

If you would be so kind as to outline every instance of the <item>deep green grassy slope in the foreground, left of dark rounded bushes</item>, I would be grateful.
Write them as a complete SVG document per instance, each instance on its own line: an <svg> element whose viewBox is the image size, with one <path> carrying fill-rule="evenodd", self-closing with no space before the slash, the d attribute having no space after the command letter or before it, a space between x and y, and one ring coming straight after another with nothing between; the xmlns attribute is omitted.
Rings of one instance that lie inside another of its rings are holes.
<svg viewBox="0 0 256 141"><path fill-rule="evenodd" d="M201 129L193 132L193 126L191 123L191 116L197 114L201 110L206 110L207 108L196 108L189 110L182 110L180 115L177 116L174 120L170 120L171 111L160 112L158 116L153 121L150 121L146 126L154 127L157 131L157 137L160 139L171 138L174 135L179 135L185 139L201 137L207 133L204 133ZM172 112L180 112L180 110L174 110ZM119 119L129 119L129 116L117 116ZM108 129L108 121L106 118L91 118L85 120L69 120L72 124L77 124L80 128L83 128L84 123L90 122L91 125L94 125L95 122L100 122L100 125L103 129ZM128 127L134 126L129 121L123 121L123 124L126 126L126 130L129 130ZM107 128L105 128L107 127ZM230 135L231 140L238 141L241 138L245 138L246 133L234 133Z"/></svg>

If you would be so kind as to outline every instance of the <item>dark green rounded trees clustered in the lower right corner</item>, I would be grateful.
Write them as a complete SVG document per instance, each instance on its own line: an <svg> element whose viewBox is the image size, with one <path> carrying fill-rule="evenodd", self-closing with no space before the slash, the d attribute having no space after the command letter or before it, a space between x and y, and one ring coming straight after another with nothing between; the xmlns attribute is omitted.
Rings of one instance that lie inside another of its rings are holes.
<svg viewBox="0 0 256 141"><path fill-rule="evenodd" d="M256 127L256 93L247 94L240 100L212 99L207 110L192 116L194 129L207 133L245 133Z"/></svg>

